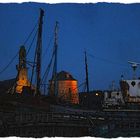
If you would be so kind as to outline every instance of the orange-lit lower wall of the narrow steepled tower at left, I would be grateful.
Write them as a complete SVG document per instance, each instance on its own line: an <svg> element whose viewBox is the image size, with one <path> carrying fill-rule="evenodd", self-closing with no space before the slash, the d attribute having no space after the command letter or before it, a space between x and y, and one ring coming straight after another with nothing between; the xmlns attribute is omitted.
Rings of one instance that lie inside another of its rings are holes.
<svg viewBox="0 0 140 140"><path fill-rule="evenodd" d="M27 78L27 69L26 68L22 68L19 71L16 92L21 93L23 86L30 86L30 82L28 81L28 78Z"/></svg>

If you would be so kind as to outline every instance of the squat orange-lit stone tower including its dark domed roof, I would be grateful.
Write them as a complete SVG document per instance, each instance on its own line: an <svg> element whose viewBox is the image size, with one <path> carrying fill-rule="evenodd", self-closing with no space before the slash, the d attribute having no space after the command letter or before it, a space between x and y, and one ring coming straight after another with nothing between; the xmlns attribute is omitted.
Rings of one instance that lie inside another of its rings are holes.
<svg viewBox="0 0 140 140"><path fill-rule="evenodd" d="M79 104L78 84L71 74L61 71L56 76L57 97L60 100L70 102L72 104ZM54 95L54 79L50 80L49 86L50 96Z"/></svg>

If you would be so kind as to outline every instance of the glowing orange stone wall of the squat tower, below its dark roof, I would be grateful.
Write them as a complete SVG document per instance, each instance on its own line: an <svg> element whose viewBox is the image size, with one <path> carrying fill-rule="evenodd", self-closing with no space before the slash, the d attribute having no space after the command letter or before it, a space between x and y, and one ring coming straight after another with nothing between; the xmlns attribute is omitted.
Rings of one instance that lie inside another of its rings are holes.
<svg viewBox="0 0 140 140"><path fill-rule="evenodd" d="M59 98L62 98L65 101L70 101L73 104L79 104L78 84L76 80L58 81L57 88ZM50 94L54 95L54 91L51 90Z"/></svg>

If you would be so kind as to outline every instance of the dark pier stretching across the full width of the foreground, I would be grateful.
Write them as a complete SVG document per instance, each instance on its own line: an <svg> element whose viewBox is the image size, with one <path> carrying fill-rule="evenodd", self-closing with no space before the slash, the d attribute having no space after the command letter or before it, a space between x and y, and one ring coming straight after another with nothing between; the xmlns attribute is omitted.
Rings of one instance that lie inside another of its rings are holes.
<svg viewBox="0 0 140 140"><path fill-rule="evenodd" d="M76 110L77 111L77 110ZM140 130L139 111L0 112L0 136L20 137L117 137ZM119 134L117 134L117 132Z"/></svg>

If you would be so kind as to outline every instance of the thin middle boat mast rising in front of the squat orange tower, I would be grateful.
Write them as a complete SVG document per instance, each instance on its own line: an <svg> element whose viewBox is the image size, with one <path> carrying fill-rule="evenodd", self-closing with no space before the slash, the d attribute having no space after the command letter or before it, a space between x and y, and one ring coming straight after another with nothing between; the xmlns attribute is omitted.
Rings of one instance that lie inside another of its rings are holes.
<svg viewBox="0 0 140 140"><path fill-rule="evenodd" d="M57 49L58 49L58 22L56 21L55 24L55 31L54 31L54 69L53 69L53 76L54 76L54 95L58 95L57 90Z"/></svg>

